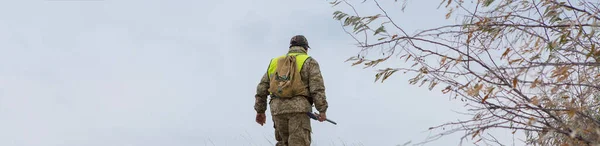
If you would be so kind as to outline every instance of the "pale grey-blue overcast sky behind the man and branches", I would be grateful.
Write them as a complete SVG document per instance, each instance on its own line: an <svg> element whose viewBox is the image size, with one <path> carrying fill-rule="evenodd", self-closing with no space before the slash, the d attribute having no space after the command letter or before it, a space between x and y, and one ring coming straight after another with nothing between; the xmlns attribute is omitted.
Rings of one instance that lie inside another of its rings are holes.
<svg viewBox="0 0 600 146"><path fill-rule="evenodd" d="M409 2L393 14L409 31L445 23L439 1ZM296 34L339 123L313 121L313 145L419 142L461 118L459 102L410 75L374 83L376 68L345 63L359 48L335 10L325 0L1 0L0 145L271 145L271 115L254 121L256 85Z"/></svg>

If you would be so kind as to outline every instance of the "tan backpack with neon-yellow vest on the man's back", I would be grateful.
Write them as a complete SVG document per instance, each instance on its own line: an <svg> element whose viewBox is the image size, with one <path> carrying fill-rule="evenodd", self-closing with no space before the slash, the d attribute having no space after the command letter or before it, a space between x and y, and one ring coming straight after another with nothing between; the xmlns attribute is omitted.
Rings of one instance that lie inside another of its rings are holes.
<svg viewBox="0 0 600 146"><path fill-rule="evenodd" d="M301 80L300 70L309 57L305 53L288 53L271 59L268 70L268 91L271 93L271 97L308 97L308 90ZM311 102L310 98L308 100Z"/></svg>

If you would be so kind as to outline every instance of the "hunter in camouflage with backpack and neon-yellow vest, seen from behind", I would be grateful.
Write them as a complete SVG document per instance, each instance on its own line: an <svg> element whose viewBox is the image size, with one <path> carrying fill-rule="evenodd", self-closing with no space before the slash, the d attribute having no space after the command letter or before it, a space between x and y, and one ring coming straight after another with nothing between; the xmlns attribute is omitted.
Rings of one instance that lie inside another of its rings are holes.
<svg viewBox="0 0 600 146"><path fill-rule="evenodd" d="M287 54L271 59L256 89L256 122L265 124L270 96L277 146L310 145L312 128L306 113L312 112L313 104L318 120L326 119L325 85L319 63L307 54L309 48L306 37L293 36Z"/></svg>

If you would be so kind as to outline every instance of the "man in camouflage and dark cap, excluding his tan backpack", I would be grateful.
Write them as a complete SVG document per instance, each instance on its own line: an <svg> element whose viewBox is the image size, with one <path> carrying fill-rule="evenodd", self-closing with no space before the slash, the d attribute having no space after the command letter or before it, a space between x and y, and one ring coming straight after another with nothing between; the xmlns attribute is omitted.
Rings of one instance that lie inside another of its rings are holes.
<svg viewBox="0 0 600 146"><path fill-rule="evenodd" d="M288 55L303 54L308 52L308 41L303 35L293 36L290 40ZM276 59L273 59L276 60ZM296 95L291 98L279 98L270 94L270 70L274 68L273 60L269 64L269 71L265 72L256 90L256 101L254 109L256 110L256 122L263 125L266 122L265 111L267 108L267 96L270 95L269 106L275 128L275 137L277 146L309 146L311 143L311 124L310 118L306 114L312 112L312 105L315 105L318 114L318 120L323 122L326 119L328 108L325 98L325 86L318 62L312 57L297 57L296 61L300 70L300 79L305 86L305 95Z"/></svg>

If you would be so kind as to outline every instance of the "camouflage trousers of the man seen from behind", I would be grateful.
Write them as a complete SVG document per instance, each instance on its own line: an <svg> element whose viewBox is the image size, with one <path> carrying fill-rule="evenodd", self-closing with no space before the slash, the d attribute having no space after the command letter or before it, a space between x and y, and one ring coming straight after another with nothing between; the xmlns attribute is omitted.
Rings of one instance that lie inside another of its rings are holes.
<svg viewBox="0 0 600 146"><path fill-rule="evenodd" d="M310 146L311 126L306 113L273 116L276 146Z"/></svg>

